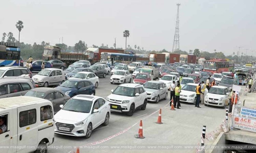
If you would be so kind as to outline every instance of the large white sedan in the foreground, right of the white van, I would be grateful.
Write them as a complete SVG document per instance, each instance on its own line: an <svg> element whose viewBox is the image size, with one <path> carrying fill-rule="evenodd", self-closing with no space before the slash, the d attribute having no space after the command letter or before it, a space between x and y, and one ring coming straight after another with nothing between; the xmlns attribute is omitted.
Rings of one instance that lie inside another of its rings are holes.
<svg viewBox="0 0 256 153"><path fill-rule="evenodd" d="M110 105L102 97L77 95L54 116L55 133L89 138L101 124L108 125Z"/></svg>

